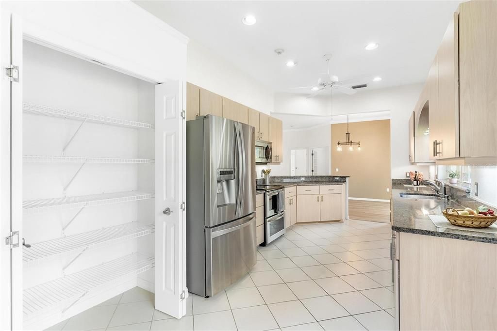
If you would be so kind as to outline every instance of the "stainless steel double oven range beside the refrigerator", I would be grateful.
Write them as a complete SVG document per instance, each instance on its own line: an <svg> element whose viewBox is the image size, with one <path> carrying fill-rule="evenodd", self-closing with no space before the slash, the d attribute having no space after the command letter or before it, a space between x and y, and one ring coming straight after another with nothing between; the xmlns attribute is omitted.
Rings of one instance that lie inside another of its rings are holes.
<svg viewBox="0 0 497 331"><path fill-rule="evenodd" d="M279 185L257 185L264 190L264 245L285 233L285 189Z"/></svg>

